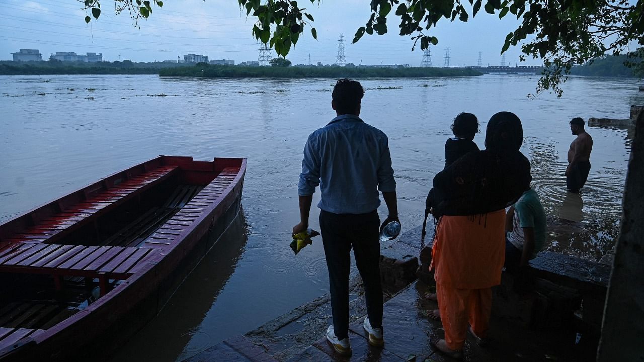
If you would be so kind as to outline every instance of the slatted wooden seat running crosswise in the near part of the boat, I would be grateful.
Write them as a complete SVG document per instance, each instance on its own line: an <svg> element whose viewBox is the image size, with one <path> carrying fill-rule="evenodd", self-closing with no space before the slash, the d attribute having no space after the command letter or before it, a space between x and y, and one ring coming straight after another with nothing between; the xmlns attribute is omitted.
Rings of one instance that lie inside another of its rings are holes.
<svg viewBox="0 0 644 362"><path fill-rule="evenodd" d="M0 272L50 274L57 289L63 276L98 278L100 295L109 280L125 280L158 250L138 247L14 243L0 250Z"/></svg>

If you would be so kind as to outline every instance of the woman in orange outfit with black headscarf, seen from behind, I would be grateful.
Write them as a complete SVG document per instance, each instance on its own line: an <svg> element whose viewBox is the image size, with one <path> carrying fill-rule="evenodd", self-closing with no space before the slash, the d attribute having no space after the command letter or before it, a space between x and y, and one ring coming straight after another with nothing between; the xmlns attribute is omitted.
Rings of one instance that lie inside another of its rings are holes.
<svg viewBox="0 0 644 362"><path fill-rule="evenodd" d="M478 341L487 335L491 287L500 283L505 257L505 208L531 180L522 142L518 117L499 112L488 122L486 149L434 177L431 204L439 222L430 269L445 338L432 336L430 343L448 356L462 357L468 325Z"/></svg>

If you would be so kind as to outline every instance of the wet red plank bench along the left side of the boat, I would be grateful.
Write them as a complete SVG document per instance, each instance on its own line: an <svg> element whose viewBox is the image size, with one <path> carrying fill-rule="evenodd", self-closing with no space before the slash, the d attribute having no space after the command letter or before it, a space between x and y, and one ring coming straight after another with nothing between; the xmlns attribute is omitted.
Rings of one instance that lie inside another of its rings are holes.
<svg viewBox="0 0 644 362"><path fill-rule="evenodd" d="M145 189L152 187L172 175L178 166L157 167L146 173L128 178L119 184L105 182L100 189L88 193L85 200L66 207L53 216L35 221L35 225L21 233L6 238L6 242L55 243L62 236L93 220L110 209L130 200Z"/></svg>

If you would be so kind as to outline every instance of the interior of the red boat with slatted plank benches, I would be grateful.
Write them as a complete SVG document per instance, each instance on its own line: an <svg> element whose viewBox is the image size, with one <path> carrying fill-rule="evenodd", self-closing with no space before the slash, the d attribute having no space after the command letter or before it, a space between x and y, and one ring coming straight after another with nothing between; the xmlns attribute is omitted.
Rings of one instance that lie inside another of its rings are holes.
<svg viewBox="0 0 644 362"><path fill-rule="evenodd" d="M0 225L0 344L69 318L171 247L239 169L212 165L141 164Z"/></svg>

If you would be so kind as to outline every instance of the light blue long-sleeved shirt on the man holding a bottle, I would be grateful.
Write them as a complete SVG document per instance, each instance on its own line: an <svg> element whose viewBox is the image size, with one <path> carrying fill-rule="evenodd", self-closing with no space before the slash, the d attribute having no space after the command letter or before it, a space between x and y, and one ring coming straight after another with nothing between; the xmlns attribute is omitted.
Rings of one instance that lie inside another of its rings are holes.
<svg viewBox="0 0 644 362"><path fill-rule="evenodd" d="M320 186L317 207L335 214L370 213L378 190L396 191L392 157L383 131L356 115L340 115L308 136L299 174L299 196Z"/></svg>

